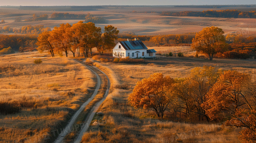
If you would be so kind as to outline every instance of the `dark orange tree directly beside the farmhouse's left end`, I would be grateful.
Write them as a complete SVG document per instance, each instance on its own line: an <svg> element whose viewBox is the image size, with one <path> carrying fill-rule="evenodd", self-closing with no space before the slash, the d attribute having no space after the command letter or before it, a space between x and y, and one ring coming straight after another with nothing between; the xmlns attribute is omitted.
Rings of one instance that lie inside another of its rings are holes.
<svg viewBox="0 0 256 143"><path fill-rule="evenodd" d="M105 26L104 33L101 35L101 43L98 45L98 51L102 55L105 50L113 48L116 44L114 42L117 39L119 30L112 25Z"/></svg>

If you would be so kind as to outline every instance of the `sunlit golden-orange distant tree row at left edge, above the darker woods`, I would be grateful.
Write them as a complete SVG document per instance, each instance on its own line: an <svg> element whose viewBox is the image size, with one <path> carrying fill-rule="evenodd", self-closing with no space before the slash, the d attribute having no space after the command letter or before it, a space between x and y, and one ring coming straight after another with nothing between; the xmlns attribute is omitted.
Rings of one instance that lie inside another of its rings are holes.
<svg viewBox="0 0 256 143"><path fill-rule="evenodd" d="M50 27L44 28L44 25L23 26L22 28L12 28L9 26L0 27L0 33L15 33L15 34L40 34L44 31L51 31Z"/></svg>

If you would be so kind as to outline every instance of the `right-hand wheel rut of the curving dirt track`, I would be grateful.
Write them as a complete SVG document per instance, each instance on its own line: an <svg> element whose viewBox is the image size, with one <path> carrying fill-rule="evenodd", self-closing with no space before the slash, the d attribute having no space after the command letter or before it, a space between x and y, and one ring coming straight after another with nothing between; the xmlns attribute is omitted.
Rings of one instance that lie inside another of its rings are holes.
<svg viewBox="0 0 256 143"><path fill-rule="evenodd" d="M96 68L96 67L95 67L95 68ZM97 68L97 69L98 69L98 68ZM99 70L99 69L98 69L98 70ZM99 70L99 71L102 72L101 70ZM104 72L102 72L102 73L106 76L106 78L107 78L107 80L108 80L108 85L107 85L108 87L107 87L107 90L106 90L106 92L105 92L105 94L104 94L104 97L103 97L100 101L98 101L98 102L95 104L95 106L93 107L92 111L91 111L90 114L88 115L89 117L86 118L85 124L84 124L84 126L82 127L82 130L80 131L79 135L76 137L76 140L75 140L74 143L80 143L80 142L81 142L82 136L83 136L83 134L88 130L89 125L90 125L90 123L92 122L94 115L96 114L97 110L99 109L99 106L102 104L102 102L103 102L103 101L106 99L106 97L108 96L108 93L109 93L109 90L110 90L110 80L109 80L108 76L107 76Z"/></svg>

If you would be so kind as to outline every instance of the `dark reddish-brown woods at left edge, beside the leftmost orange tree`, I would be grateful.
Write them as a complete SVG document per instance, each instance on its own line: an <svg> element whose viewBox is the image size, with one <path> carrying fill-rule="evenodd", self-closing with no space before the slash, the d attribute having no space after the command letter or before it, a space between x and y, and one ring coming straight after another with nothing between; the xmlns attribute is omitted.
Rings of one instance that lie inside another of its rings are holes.
<svg viewBox="0 0 256 143"><path fill-rule="evenodd" d="M0 50L11 47L16 51L32 51L36 49L38 35L4 35L0 34Z"/></svg>

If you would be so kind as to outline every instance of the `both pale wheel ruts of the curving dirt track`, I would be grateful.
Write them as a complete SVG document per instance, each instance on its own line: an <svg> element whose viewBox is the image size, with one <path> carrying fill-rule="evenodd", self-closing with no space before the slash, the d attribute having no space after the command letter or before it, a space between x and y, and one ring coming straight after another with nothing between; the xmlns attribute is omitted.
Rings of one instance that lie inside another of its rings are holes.
<svg viewBox="0 0 256 143"><path fill-rule="evenodd" d="M75 59L76 60L76 59ZM76 60L78 61L78 60ZM82 63L81 61L78 61L79 63ZM83 65L85 65L84 63L82 63ZM110 90L110 80L108 78L108 76L101 71L100 69L98 69L95 66L89 66L89 65L85 65L86 67L88 67L89 70L91 70L97 78L97 84L96 84L96 88L94 90L93 95L86 101L84 102L81 107L75 112L75 114L72 116L72 118L70 119L68 125L65 127L65 129L58 135L58 138L54 141L54 143L63 143L63 139L64 137L70 133L73 124L75 123L75 120L77 119L77 117L80 115L80 113L85 109L85 107L93 100L93 98L95 98L95 96L98 93L98 90L100 88L101 85L101 78L99 76L99 74L97 74L97 72L101 72L107 79L107 88L105 91L105 94L103 96L103 98L96 102L94 104L94 107L92 108L91 112L87 115L85 123L83 124L79 135L75 138L75 143L80 143L82 140L82 135L88 130L90 123L92 122L92 119L94 117L94 115L96 114L96 111L98 110L99 106L102 104L102 102L106 99L107 95L109 94L109 90ZM97 70L97 71L96 71Z"/></svg>

